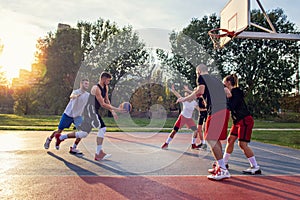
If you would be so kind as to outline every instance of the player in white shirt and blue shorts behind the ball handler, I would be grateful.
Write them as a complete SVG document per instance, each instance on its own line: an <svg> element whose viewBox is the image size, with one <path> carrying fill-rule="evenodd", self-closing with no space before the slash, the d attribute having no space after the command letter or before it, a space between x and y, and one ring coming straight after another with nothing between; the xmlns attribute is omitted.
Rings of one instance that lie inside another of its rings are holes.
<svg viewBox="0 0 300 200"><path fill-rule="evenodd" d="M70 101L65 108L64 113L61 116L58 130L54 131L49 137L47 137L44 144L45 149L49 149L50 143L56 134L60 134L65 128L69 128L73 123L76 128L82 123L82 113L83 109L88 101L89 93L87 92L89 88L89 80L82 79L80 82L80 88L73 90L70 95ZM77 138L72 147L70 147L70 153L80 154L81 152L77 149L77 145L80 142L80 138ZM59 146L56 146L59 149Z"/></svg>

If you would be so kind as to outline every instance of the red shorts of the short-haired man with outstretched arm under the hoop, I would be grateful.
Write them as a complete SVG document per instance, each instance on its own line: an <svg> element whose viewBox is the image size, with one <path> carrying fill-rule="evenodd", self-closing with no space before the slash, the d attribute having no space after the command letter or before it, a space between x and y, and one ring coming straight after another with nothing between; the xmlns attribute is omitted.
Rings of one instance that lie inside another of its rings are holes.
<svg viewBox="0 0 300 200"><path fill-rule="evenodd" d="M225 140L227 138L228 121L230 111L221 110L213 115L209 115L205 124L205 140Z"/></svg>

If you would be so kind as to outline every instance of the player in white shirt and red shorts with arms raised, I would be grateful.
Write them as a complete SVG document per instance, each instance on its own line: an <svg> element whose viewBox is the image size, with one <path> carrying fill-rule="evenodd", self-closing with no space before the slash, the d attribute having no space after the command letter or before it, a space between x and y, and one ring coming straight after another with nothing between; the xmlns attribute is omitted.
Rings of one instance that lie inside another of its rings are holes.
<svg viewBox="0 0 300 200"><path fill-rule="evenodd" d="M172 90L171 91L177 98L181 97L181 95L175 90L174 85L172 85ZM189 93L185 92L184 95L188 96ZM169 134L166 142L161 146L162 149L167 149L168 148L168 145L172 141L172 139L174 138L175 134L184 125L186 125L189 129L191 129L194 132L193 137L192 137L192 146L191 146L191 148L192 149L198 149L198 145L195 144L196 139L197 139L197 135L198 135L198 131L197 131L196 124L195 124L195 122L192 118L193 111L194 111L195 108L199 109L198 103L195 100L183 102L183 109L182 109L180 115L178 116L177 121L174 124L174 128L173 128L172 132Z"/></svg>

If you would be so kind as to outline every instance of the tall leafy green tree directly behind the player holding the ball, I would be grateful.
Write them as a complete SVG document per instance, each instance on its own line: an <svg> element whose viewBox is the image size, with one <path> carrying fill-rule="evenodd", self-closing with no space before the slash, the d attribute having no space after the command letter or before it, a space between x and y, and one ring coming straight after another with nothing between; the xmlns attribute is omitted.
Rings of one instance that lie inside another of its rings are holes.
<svg viewBox="0 0 300 200"><path fill-rule="evenodd" d="M113 76L109 85L112 103L118 105L124 96L128 96L128 101L133 88L124 86L124 83L128 83L128 80L141 81L149 75L145 44L131 26L118 28L116 24L103 19L95 23L80 22L78 28L82 33L84 58L76 81L88 77L95 84L102 71L110 72ZM118 99L115 102L112 96L119 91L122 95L115 97Z"/></svg>

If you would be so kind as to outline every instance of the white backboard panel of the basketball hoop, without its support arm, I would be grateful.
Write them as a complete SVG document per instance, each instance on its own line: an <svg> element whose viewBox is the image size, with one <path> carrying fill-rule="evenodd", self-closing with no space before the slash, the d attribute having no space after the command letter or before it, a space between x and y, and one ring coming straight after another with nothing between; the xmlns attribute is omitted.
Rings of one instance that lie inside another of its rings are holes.
<svg viewBox="0 0 300 200"><path fill-rule="evenodd" d="M230 0L220 14L220 28L238 34L250 25L250 0ZM222 33L222 31L221 31ZM220 47L230 42L231 37L220 37Z"/></svg>

